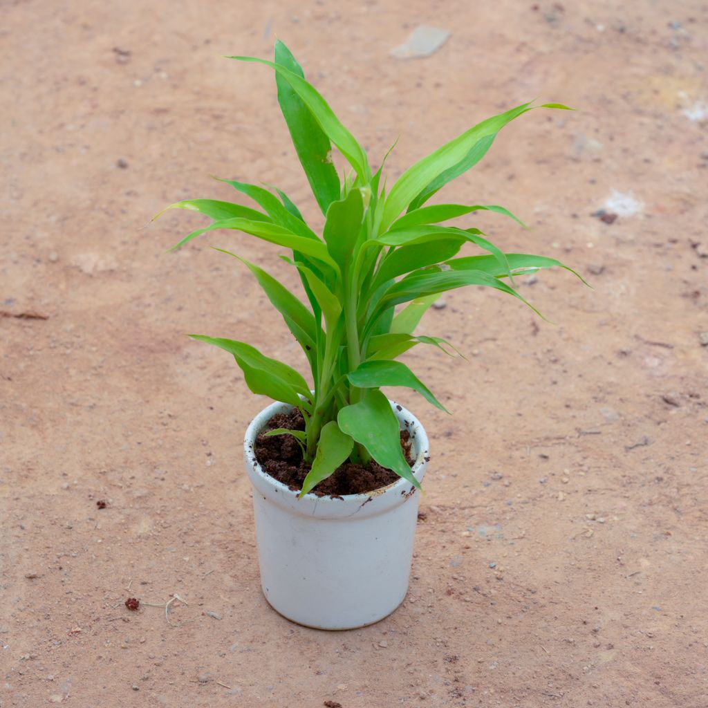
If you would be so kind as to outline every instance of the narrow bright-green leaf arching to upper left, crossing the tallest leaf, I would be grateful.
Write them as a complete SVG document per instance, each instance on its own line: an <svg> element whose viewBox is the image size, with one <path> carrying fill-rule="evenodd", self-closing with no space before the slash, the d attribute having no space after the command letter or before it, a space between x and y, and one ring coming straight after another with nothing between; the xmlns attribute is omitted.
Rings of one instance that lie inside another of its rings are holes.
<svg viewBox="0 0 708 708"><path fill-rule="evenodd" d="M356 173L363 179L370 178L369 161L366 153L360 146L354 136L344 127L341 121L334 115L334 111L329 107L328 103L314 89L314 86L305 81L302 76L298 76L295 72L282 67L280 64L268 62L267 59L258 59L257 57L228 57L229 59L237 59L239 62L258 62L265 64L272 69L275 69L278 76L287 81L290 87L302 98L302 101L315 120L319 123L327 137L338 147L343 156L346 157L348 163L355 169Z"/></svg>

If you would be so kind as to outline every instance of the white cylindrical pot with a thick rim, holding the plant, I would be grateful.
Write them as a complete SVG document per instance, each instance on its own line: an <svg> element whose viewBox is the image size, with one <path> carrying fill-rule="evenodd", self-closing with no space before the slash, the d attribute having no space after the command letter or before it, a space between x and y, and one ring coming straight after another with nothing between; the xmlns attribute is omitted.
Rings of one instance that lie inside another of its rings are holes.
<svg viewBox="0 0 708 708"><path fill-rule="evenodd" d="M428 459L426 431L409 411L391 405L401 429L411 434L411 472L422 481ZM263 594L283 617L307 627L373 624L406 597L418 491L401 478L366 494L306 494L299 499L297 491L261 469L254 452L256 436L270 418L291 408L268 406L253 418L244 440Z"/></svg>

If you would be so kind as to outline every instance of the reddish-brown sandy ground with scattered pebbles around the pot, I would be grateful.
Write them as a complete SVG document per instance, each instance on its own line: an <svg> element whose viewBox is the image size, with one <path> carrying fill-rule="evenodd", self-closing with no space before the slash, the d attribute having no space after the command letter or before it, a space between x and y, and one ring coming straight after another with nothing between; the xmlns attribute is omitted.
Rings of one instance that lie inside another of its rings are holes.
<svg viewBox="0 0 708 708"><path fill-rule="evenodd" d="M708 9L564 5L1 4L3 708L708 704ZM419 23L452 36L391 57ZM202 220L144 228L235 199L210 173L276 183L321 223L273 76L220 58L276 35L375 162L401 134L391 178L535 96L582 109L525 115L447 190L527 219L475 224L595 290L523 282L556 324L480 289L427 316L469 361L407 358L455 415L399 398L432 442L425 518L406 602L354 632L265 603L241 439L266 401L184 336L302 362L208 246L275 251L215 233L165 254ZM123 605L174 593L174 627Z"/></svg>

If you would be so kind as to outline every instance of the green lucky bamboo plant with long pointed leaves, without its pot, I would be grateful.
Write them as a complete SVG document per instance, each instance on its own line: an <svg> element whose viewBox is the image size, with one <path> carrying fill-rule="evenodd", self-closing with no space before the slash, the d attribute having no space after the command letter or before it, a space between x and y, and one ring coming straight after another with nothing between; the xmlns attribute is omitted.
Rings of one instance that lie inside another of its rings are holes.
<svg viewBox="0 0 708 708"><path fill-rule="evenodd" d="M387 189L383 165L372 171L366 152L304 79L302 67L282 42L275 45L275 62L229 58L275 70L282 115L326 217L323 234L320 237L307 225L281 190L276 189L275 196L261 186L223 180L261 210L208 199L177 202L168 208L197 211L213 223L189 234L175 248L212 229L234 229L292 250L292 257L281 258L297 268L309 307L273 275L235 257L249 268L285 319L307 357L311 382L244 342L191 336L234 355L253 393L292 404L302 413L304 431L280 428L269 433L293 435L305 461L312 464L301 496L347 459L373 458L418 486L401 450L399 423L379 388L409 387L445 410L409 367L396 361L418 344L445 350L447 343L441 338L413 334L421 316L441 292L464 285L493 287L526 302L513 287L513 275L566 268L553 258L503 253L479 229L440 225L479 210L521 223L503 207L426 206L440 188L479 162L502 127L536 106L523 103L482 121L418 161ZM538 108L567 107L546 103ZM332 144L351 168L341 182ZM486 253L456 258L466 244ZM396 306L404 303L409 304L396 312Z"/></svg>

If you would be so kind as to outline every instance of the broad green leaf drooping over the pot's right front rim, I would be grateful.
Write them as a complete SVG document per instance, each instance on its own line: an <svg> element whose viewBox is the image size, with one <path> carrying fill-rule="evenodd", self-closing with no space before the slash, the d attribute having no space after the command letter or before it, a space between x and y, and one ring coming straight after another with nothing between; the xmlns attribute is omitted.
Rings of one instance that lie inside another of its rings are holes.
<svg viewBox="0 0 708 708"><path fill-rule="evenodd" d="M361 401L339 411L337 423L343 433L363 445L382 467L392 469L421 488L401 450L398 419L382 392L367 390Z"/></svg>

